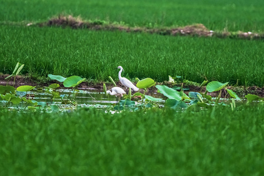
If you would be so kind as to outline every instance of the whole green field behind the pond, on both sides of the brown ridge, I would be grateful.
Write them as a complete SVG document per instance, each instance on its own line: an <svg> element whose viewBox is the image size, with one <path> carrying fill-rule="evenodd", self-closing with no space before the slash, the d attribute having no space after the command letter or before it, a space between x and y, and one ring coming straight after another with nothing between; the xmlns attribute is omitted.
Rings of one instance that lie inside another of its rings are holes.
<svg viewBox="0 0 264 176"><path fill-rule="evenodd" d="M218 31L264 31L264 2L257 0L8 0L0 5L0 73L47 77L78 75L94 82L116 81L117 70L134 79L183 76L239 85L264 85L263 40L158 36L145 33L28 26L58 14L129 26L171 27L203 23Z"/></svg>

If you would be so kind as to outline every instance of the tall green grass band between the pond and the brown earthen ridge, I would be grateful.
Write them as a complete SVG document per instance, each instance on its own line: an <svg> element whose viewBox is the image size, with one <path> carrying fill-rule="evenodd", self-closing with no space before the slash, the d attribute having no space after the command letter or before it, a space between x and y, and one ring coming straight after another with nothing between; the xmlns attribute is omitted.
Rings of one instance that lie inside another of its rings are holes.
<svg viewBox="0 0 264 176"><path fill-rule="evenodd" d="M168 80L264 85L262 40L159 36L144 33L72 30L70 28L0 26L0 72L11 74L17 62L22 74L47 77L78 75L88 80L123 76Z"/></svg>

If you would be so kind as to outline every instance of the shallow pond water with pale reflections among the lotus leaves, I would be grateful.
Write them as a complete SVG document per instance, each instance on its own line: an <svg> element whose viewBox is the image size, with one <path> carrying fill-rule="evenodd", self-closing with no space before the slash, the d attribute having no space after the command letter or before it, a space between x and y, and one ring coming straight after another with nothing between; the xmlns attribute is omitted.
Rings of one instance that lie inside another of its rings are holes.
<svg viewBox="0 0 264 176"><path fill-rule="evenodd" d="M37 102L43 102L43 104L46 104L47 106L50 106L51 104L55 104L57 105L60 109L75 109L76 107L96 107L96 108L107 108L107 107L111 107L112 105L117 103L117 98L116 96L112 96L112 95L106 95L104 92L101 92L97 89L87 89L87 88L79 88L78 89L78 93L74 93L74 97L72 97L73 94L73 90L71 89L58 89L57 90L60 95L63 98L63 100L67 100L68 95L70 94L70 98L74 99L76 101L76 105L74 106L73 104L64 104L62 103L62 99L60 97L58 98L54 98L53 100L51 100L52 98L52 94L51 93L47 93L47 91L45 89L39 89L39 90L34 90L34 91L29 91L27 92L27 96L30 100L35 100ZM188 92L186 92L188 94ZM19 95L19 93L17 93ZM161 93L157 93L157 92L147 92L147 95L150 95L152 97L155 98L162 98L163 100L157 102L157 105L159 108L163 108L165 106L165 100L167 99L166 96L164 96ZM215 98L213 98L213 101L215 101ZM140 103L142 103L142 101L139 101ZM145 102L145 99L144 99ZM219 102L224 102L225 104L230 104L231 100L229 99L224 99L221 98L219 100ZM240 106L241 104L245 103L246 101L244 100L236 100L236 105ZM5 107L7 101L0 101L0 107ZM74 102L73 102L74 103ZM137 105L138 102L135 102L135 105ZM46 106L45 105L45 106ZM9 104L7 107L8 109L23 109L27 106L32 106L29 105L28 103L20 103L18 105L12 105Z"/></svg>

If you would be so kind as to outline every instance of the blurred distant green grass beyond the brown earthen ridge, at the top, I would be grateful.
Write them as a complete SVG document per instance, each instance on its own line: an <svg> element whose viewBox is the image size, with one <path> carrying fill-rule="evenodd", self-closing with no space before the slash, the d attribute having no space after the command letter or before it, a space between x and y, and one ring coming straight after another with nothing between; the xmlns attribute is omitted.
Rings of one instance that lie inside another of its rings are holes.
<svg viewBox="0 0 264 176"><path fill-rule="evenodd" d="M1 22L43 22L60 13L124 22L130 26L184 26L203 23L210 30L264 31L261 0L5 0Z"/></svg>

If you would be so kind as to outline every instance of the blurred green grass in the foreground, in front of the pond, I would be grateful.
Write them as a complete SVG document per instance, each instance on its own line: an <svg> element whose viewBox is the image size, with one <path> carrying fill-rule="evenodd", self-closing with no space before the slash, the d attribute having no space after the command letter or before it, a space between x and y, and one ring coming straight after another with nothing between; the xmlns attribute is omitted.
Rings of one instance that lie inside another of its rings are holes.
<svg viewBox="0 0 264 176"><path fill-rule="evenodd" d="M0 112L0 175L261 176L264 106Z"/></svg>

